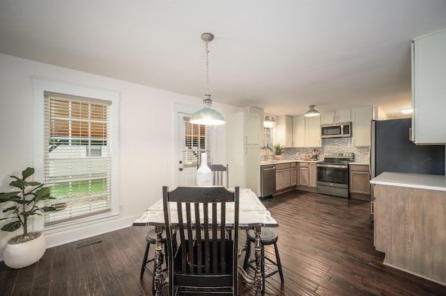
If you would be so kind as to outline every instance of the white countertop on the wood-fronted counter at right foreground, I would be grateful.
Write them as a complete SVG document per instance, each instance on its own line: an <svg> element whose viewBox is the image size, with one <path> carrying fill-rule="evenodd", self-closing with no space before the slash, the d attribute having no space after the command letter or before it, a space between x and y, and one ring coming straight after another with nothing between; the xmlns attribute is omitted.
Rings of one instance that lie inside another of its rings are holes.
<svg viewBox="0 0 446 296"><path fill-rule="evenodd" d="M446 191L446 176L435 174L406 174L383 172L382 174L376 176L374 179L371 179L370 183Z"/></svg>

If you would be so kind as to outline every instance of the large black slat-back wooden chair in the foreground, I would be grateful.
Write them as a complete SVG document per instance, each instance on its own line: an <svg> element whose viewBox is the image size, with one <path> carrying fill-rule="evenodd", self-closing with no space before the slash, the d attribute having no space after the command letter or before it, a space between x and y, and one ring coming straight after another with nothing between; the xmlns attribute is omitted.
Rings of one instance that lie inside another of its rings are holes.
<svg viewBox="0 0 446 296"><path fill-rule="evenodd" d="M179 186L169 191L164 186L162 195L169 295L237 295L239 188ZM229 229L231 240L224 235ZM175 230L180 245L174 253Z"/></svg>

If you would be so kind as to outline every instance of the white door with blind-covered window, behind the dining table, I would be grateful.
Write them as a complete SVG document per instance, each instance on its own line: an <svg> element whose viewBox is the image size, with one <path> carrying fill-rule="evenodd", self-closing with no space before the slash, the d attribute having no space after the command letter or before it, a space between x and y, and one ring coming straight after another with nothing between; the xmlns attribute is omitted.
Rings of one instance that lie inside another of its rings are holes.
<svg viewBox="0 0 446 296"><path fill-rule="evenodd" d="M207 153L207 163L212 159L212 126L191 124L189 120L190 114L176 113L174 186L195 186L201 154Z"/></svg>

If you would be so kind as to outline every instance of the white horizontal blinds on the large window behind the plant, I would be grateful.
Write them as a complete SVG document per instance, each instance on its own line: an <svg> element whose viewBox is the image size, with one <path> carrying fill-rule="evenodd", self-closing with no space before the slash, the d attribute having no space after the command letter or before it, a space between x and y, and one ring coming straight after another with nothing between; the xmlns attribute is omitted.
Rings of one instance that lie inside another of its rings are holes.
<svg viewBox="0 0 446 296"><path fill-rule="evenodd" d="M45 92L45 225L111 211L111 102Z"/></svg>

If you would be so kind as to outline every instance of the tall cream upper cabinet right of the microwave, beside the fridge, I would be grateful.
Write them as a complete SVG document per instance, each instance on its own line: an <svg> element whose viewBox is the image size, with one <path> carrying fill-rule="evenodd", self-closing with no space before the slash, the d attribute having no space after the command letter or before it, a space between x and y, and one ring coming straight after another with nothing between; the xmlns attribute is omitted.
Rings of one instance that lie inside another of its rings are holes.
<svg viewBox="0 0 446 296"><path fill-rule="evenodd" d="M351 109L353 146L370 146L372 111L371 106L362 106Z"/></svg>

